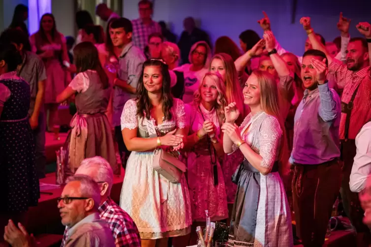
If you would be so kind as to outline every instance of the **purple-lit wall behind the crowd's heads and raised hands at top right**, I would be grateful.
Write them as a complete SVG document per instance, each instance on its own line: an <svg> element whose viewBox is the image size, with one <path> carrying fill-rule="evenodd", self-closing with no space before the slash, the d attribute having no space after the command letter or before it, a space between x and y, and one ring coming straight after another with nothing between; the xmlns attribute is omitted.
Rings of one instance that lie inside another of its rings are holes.
<svg viewBox="0 0 371 247"><path fill-rule="evenodd" d="M124 0L124 17L138 18L137 3L138 0ZM299 0L295 24L291 24L291 4L292 0L155 0L153 19L170 22L172 31L180 35L183 19L192 16L209 33L212 42L227 35L238 44L239 33L246 29L262 35L257 21L265 10L277 40L284 48L299 55L304 53L306 39L299 24L303 16L310 16L315 31L328 41L339 35L336 24L340 11L352 19L352 36L359 36L355 29L358 22L371 23L371 0Z"/></svg>

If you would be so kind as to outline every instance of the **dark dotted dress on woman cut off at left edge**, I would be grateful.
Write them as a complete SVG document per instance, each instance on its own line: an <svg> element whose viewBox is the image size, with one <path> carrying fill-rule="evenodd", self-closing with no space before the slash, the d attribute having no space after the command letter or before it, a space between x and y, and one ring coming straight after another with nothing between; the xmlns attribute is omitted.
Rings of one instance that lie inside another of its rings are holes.
<svg viewBox="0 0 371 247"><path fill-rule="evenodd" d="M36 206L39 181L35 146L27 118L30 85L15 74L0 76L10 91L0 116L0 213L21 213Z"/></svg>

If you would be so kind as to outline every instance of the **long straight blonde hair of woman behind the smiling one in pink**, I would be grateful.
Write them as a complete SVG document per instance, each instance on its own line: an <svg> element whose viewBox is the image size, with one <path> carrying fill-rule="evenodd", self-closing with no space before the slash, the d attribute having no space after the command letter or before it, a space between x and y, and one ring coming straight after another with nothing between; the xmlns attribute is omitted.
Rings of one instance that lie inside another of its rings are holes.
<svg viewBox="0 0 371 247"><path fill-rule="evenodd" d="M226 70L226 81L225 83L225 92L227 95L228 103L236 102L237 108L240 111L241 118L245 117L245 105L243 103L243 94L241 85L238 81L237 70L235 66L235 62L230 55L226 53L219 53L212 57L211 62L214 59L219 59L223 62L224 69ZM209 71L211 70L211 62Z"/></svg>

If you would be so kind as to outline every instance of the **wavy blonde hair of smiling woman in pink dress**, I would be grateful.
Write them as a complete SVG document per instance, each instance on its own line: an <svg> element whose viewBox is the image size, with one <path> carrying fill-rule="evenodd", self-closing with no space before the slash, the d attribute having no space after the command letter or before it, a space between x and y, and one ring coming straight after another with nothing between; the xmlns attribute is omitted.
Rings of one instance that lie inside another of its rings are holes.
<svg viewBox="0 0 371 247"><path fill-rule="evenodd" d="M214 105L215 111L216 111L216 116L218 117L219 124L222 125L226 118L224 115L224 108L227 106L227 96L226 96L226 87L223 82L223 78L219 73L211 73L207 72L203 78L202 78L202 83L200 83L200 86L198 90L195 92L195 96L193 98L193 105L195 107L198 107L201 103L202 97L201 97L201 88L203 85L203 82L205 78L211 78L215 82L215 87L216 90L218 91L218 96L216 97L216 103Z"/></svg>

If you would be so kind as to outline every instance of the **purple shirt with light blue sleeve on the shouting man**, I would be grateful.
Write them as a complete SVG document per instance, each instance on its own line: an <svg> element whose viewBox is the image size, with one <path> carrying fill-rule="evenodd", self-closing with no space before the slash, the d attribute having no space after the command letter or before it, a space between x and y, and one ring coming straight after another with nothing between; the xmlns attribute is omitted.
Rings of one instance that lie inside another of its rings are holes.
<svg viewBox="0 0 371 247"><path fill-rule="evenodd" d="M291 163L322 164L340 156L340 98L327 83L308 92L295 113Z"/></svg>

